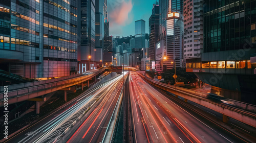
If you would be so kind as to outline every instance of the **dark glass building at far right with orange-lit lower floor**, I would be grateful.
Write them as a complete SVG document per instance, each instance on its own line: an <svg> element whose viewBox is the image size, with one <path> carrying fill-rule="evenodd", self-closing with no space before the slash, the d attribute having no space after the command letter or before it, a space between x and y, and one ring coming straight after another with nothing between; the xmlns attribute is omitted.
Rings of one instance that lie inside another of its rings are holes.
<svg viewBox="0 0 256 143"><path fill-rule="evenodd" d="M205 1L202 62L187 63L225 98L256 103L256 2Z"/></svg>

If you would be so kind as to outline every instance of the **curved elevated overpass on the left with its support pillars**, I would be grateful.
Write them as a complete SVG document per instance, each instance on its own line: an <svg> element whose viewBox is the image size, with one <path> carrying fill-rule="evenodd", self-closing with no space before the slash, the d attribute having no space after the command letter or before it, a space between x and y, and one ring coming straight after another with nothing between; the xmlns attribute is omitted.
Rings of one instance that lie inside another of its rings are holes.
<svg viewBox="0 0 256 143"><path fill-rule="evenodd" d="M45 94L64 90L64 99L67 101L67 90L70 90L71 86L87 82L89 87L89 80L105 71L105 68L88 70L82 74L71 75L67 77L35 81L21 84L8 85L8 105L26 100L38 101L36 102L36 112L39 113L39 101L45 101L43 96ZM0 87L0 107L4 106L5 100L5 86ZM83 90L83 89L82 89Z"/></svg>

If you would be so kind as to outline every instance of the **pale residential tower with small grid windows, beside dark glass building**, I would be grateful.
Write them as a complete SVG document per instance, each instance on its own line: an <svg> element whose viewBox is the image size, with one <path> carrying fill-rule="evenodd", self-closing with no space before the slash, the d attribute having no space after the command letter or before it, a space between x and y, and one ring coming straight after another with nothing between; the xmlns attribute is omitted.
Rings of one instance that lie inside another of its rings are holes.
<svg viewBox="0 0 256 143"><path fill-rule="evenodd" d="M201 60L203 51L203 1L184 1L184 59Z"/></svg>

